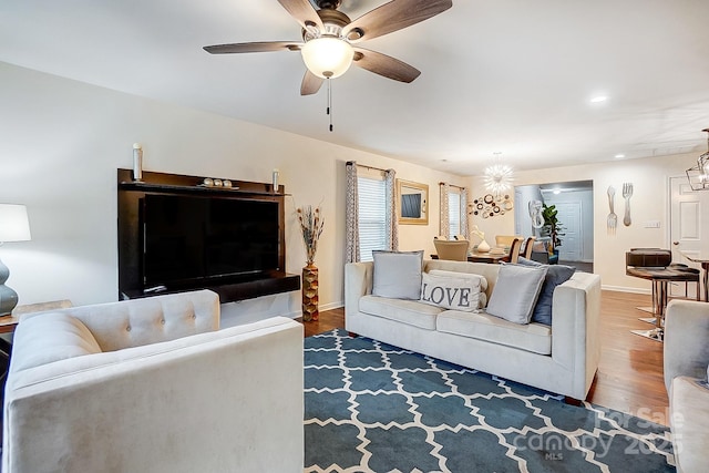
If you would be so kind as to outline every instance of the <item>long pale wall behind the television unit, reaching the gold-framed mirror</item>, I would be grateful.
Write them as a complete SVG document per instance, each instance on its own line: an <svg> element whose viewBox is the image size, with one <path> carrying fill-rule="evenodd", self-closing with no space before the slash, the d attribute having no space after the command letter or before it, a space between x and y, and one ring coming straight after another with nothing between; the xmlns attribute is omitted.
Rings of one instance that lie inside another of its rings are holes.
<svg viewBox="0 0 709 473"><path fill-rule="evenodd" d="M397 169L429 184L430 223L401 226L402 249L433 250L438 183L460 177L267 128L0 63L0 202L28 206L32 240L8 244L8 286L20 304L71 299L74 305L116 300L116 168L132 166L143 144L144 168L163 173L270 183L271 169L287 200L286 269L300 274L305 249L292 210L321 204L325 213L316 265L320 306L342 304L345 163ZM275 112L277 113L277 112ZM282 297L280 298L282 299ZM254 310L300 311L299 294L285 308L259 300Z"/></svg>

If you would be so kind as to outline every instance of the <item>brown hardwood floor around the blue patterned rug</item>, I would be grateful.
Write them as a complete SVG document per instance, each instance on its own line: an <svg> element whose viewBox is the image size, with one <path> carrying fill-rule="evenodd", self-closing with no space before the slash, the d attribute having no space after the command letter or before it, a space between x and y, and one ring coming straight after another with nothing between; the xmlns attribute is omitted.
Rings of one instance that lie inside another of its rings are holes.
<svg viewBox="0 0 709 473"><path fill-rule="evenodd" d="M600 304L600 361L588 402L668 425L668 399L662 379L662 343L630 333L650 329L636 307L650 296L604 290ZM320 312L305 322L305 336L345 328L345 308Z"/></svg>

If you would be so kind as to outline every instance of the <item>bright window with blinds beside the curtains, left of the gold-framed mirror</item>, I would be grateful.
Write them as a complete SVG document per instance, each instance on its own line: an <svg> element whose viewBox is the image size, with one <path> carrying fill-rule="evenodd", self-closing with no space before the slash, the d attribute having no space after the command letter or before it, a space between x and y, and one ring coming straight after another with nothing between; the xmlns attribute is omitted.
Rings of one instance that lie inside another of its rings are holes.
<svg viewBox="0 0 709 473"><path fill-rule="evenodd" d="M383 178L357 178L359 197L359 253L371 261L372 249L387 249L387 185Z"/></svg>

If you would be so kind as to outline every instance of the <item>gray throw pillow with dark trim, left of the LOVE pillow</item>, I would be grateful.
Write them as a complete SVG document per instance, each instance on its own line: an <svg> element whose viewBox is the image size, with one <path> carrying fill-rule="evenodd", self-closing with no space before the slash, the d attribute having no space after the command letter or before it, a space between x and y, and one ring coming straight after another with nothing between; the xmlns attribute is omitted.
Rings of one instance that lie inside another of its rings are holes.
<svg viewBox="0 0 709 473"><path fill-rule="evenodd" d="M393 299L421 298L423 250L372 251L374 273L372 295Z"/></svg>

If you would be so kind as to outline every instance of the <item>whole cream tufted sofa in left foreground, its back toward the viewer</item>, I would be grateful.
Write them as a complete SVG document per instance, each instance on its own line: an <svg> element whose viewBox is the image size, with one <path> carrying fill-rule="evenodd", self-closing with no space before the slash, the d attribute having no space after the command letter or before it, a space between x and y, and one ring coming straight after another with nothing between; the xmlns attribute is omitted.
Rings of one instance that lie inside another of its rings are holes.
<svg viewBox="0 0 709 473"><path fill-rule="evenodd" d="M208 290L24 316L3 472L301 472L302 326L218 323Z"/></svg>

